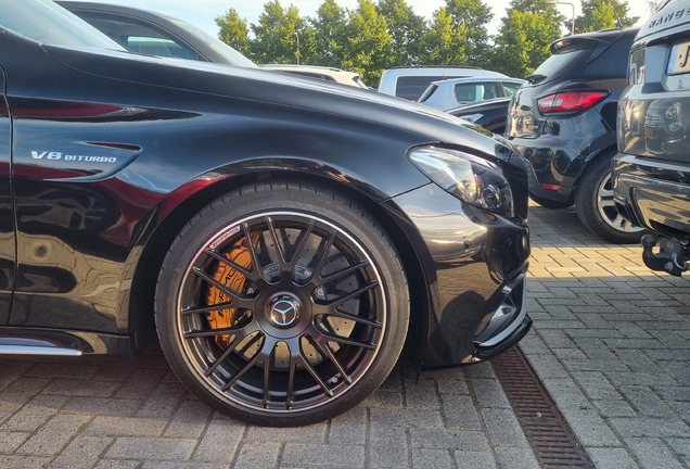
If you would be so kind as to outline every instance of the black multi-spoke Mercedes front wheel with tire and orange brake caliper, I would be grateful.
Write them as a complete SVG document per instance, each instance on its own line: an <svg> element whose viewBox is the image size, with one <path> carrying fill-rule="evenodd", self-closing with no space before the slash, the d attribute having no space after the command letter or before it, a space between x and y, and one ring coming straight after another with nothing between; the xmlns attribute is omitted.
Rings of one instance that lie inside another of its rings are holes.
<svg viewBox="0 0 690 469"><path fill-rule="evenodd" d="M246 186L203 208L170 246L155 294L180 381L259 426L316 423L359 404L395 366L409 314L383 228L353 200L293 182Z"/></svg>

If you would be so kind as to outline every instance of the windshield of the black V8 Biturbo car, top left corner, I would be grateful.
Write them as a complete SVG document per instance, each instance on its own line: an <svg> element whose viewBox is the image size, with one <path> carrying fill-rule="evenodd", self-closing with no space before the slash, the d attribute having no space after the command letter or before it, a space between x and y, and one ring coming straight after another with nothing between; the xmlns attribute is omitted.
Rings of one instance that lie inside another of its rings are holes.
<svg viewBox="0 0 690 469"><path fill-rule="evenodd" d="M41 43L125 50L50 0L0 0L0 25Z"/></svg>

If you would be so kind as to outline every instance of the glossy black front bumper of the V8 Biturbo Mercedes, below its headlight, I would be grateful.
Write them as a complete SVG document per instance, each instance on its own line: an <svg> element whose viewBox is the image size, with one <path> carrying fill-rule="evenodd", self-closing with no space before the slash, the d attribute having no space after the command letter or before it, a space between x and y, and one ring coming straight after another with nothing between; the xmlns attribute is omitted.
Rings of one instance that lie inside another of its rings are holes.
<svg viewBox="0 0 690 469"><path fill-rule="evenodd" d="M405 216L425 269L431 304L423 366L476 363L514 345L532 324L526 224L462 203L435 185L386 204Z"/></svg>

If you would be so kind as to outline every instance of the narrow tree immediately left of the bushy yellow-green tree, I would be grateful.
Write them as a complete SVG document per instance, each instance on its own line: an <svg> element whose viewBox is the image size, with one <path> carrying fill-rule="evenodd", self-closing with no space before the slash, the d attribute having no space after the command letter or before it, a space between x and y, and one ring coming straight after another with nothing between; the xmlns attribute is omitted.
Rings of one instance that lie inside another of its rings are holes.
<svg viewBox="0 0 690 469"><path fill-rule="evenodd" d="M491 55L486 25L494 14L482 0L446 0L446 12L450 14L456 34L464 36L464 55L469 65L485 66Z"/></svg>

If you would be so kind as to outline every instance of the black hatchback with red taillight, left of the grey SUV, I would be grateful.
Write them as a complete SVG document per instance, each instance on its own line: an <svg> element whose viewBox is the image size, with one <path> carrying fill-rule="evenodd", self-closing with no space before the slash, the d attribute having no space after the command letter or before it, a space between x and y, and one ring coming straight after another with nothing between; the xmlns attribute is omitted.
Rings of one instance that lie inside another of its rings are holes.
<svg viewBox="0 0 690 469"><path fill-rule="evenodd" d="M529 164L529 195L548 208L575 204L583 224L602 238L638 242L642 228L613 202L616 102L626 86L637 29L568 36L513 97L507 135Z"/></svg>

